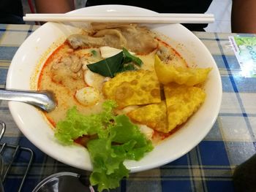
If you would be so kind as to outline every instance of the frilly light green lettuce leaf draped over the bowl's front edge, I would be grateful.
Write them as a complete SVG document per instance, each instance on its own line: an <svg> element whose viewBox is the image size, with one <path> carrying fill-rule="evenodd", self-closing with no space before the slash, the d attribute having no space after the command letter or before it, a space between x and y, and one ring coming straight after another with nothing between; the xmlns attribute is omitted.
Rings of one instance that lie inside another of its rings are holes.
<svg viewBox="0 0 256 192"><path fill-rule="evenodd" d="M56 138L64 145L83 135L97 134L87 143L94 170L90 176L91 185L98 190L117 188L123 177L129 176L124 166L125 159L140 160L153 149L135 124L126 115L113 114L116 102L105 101L98 114L82 115L75 107L67 112L67 118L56 126ZM94 137L95 138L95 137Z"/></svg>

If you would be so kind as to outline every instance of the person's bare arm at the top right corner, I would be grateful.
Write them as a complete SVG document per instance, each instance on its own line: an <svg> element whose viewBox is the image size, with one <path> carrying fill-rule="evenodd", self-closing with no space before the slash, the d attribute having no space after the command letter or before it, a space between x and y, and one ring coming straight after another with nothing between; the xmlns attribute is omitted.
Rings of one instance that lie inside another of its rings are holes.
<svg viewBox="0 0 256 192"><path fill-rule="evenodd" d="M256 34L256 0L233 0L231 28L235 33Z"/></svg>

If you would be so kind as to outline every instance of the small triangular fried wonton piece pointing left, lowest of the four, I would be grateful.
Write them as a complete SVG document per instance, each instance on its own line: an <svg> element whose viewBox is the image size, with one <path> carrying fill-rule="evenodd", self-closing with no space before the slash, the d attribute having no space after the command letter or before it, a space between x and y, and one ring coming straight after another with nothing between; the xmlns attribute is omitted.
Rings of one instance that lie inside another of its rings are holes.
<svg viewBox="0 0 256 192"><path fill-rule="evenodd" d="M139 107L136 110L128 112L127 116L136 123L146 125L154 130L163 133L169 132L165 101L159 104L148 104Z"/></svg>

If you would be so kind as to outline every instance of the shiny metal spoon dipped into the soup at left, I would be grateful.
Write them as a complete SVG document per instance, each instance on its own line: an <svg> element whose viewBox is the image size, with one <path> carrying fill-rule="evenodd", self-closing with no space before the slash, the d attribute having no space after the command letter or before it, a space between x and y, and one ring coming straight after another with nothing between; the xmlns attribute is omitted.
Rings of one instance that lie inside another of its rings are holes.
<svg viewBox="0 0 256 192"><path fill-rule="evenodd" d="M0 100L20 101L51 112L56 108L56 99L51 91L18 91L0 89Z"/></svg>

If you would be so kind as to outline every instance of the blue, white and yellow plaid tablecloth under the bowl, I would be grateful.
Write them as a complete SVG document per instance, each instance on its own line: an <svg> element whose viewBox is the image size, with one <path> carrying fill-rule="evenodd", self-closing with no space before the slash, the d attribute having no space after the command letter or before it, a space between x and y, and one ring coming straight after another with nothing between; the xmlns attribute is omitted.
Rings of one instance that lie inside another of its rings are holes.
<svg viewBox="0 0 256 192"><path fill-rule="evenodd" d="M0 25L0 88L4 88L13 55L36 28L38 26ZM210 50L222 77L222 105L216 123L203 141L186 155L165 166L130 174L113 191L234 191L232 175L235 167L255 154L256 78L241 76L228 40L236 34L195 32L195 35ZM0 120L7 126L1 143L29 147L34 151L34 160L21 191L31 191L53 173L81 173L32 145L12 120L7 101L0 102ZM18 154L4 181L6 191L18 190L27 156L22 152ZM83 174L90 172L83 171Z"/></svg>

